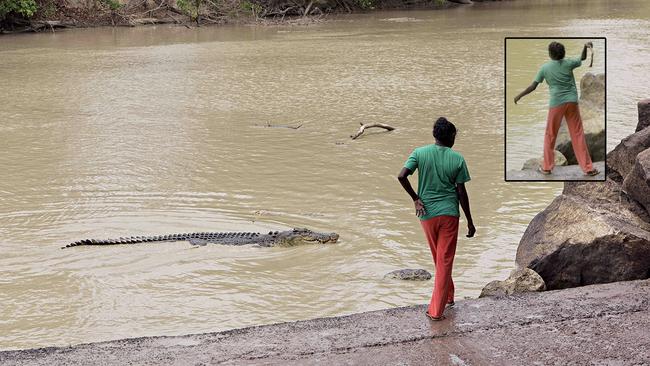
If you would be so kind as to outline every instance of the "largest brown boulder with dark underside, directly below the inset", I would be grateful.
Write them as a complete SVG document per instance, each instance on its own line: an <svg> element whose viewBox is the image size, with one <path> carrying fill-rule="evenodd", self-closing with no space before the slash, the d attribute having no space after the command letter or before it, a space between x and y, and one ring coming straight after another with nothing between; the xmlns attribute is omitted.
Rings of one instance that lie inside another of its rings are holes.
<svg viewBox="0 0 650 366"><path fill-rule="evenodd" d="M548 289L648 278L650 218L616 182L566 182L528 225L516 262Z"/></svg>

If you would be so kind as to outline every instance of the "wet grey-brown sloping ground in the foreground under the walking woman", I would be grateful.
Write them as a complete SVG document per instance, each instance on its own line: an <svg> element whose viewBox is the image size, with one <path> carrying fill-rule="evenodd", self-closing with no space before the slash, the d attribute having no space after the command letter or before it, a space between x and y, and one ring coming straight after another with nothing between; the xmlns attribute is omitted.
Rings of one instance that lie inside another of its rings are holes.
<svg viewBox="0 0 650 366"><path fill-rule="evenodd" d="M0 352L2 365L650 362L650 280L458 301L431 322L411 306L219 333Z"/></svg>

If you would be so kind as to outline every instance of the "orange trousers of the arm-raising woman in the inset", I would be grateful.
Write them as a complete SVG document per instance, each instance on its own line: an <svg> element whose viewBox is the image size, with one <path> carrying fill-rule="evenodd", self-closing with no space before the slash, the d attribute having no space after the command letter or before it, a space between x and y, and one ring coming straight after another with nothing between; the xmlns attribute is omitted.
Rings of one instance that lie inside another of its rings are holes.
<svg viewBox="0 0 650 366"><path fill-rule="evenodd" d="M560 123L562 123L562 117L566 118L569 134L571 135L571 145L578 164L585 173L592 171L594 167L591 164L591 156L587 148L587 141L585 141L585 132L582 129L580 110L578 109L578 103L573 102L563 103L548 110L542 169L552 170L555 167L555 140L557 139L557 131L560 129Z"/></svg>

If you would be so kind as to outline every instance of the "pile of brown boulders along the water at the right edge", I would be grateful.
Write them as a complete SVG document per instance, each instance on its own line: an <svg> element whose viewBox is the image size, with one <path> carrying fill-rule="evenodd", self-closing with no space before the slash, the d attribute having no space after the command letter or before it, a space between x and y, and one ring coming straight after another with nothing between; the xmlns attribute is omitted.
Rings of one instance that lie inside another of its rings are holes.
<svg viewBox="0 0 650 366"><path fill-rule="evenodd" d="M650 278L650 99L638 111L636 132L607 154L607 179L565 182L526 228L516 263L544 286L514 271L482 296Z"/></svg>

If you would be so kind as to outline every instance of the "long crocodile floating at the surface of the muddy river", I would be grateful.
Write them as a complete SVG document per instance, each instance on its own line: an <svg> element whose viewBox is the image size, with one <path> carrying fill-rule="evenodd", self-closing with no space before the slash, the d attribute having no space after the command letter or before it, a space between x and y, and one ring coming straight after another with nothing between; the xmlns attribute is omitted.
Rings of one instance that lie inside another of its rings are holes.
<svg viewBox="0 0 650 366"><path fill-rule="evenodd" d="M269 231L268 234L254 232L202 232L170 234L159 236L131 236L119 239L84 239L70 243L61 249L76 247L80 245L115 245L115 244L137 244L162 241L184 241L192 245L206 245L208 243L223 245L247 245L256 244L261 247L293 246L303 243L336 243L339 235L336 233L318 233L304 228L295 228L286 231Z"/></svg>

